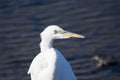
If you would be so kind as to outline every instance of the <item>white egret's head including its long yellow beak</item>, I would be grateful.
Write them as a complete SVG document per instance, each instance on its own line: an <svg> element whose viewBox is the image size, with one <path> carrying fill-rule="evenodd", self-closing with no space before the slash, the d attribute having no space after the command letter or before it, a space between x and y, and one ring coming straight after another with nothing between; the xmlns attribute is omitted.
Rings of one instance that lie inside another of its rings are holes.
<svg viewBox="0 0 120 80"><path fill-rule="evenodd" d="M85 36L83 36L83 35L65 31L57 25L48 26L41 33L41 37L49 37L52 39L85 38Z"/></svg>

